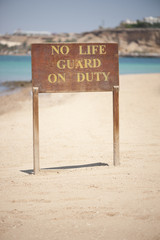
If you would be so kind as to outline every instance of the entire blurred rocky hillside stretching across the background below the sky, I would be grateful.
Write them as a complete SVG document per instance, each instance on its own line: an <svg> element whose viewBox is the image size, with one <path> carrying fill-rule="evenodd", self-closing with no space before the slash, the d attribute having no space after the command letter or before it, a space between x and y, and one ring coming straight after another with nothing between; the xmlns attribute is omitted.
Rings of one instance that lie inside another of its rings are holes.
<svg viewBox="0 0 160 240"><path fill-rule="evenodd" d="M101 29L91 32L51 35L0 36L0 55L31 54L32 43L117 42L120 56L160 57L160 29Z"/></svg>

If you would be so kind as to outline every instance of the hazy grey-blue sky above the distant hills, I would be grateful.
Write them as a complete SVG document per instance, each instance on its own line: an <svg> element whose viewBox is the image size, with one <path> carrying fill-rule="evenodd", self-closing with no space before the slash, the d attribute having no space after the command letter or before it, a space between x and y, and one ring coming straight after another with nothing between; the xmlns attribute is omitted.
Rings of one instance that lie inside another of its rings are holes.
<svg viewBox="0 0 160 240"><path fill-rule="evenodd" d="M0 34L81 33L160 16L160 0L0 0Z"/></svg>

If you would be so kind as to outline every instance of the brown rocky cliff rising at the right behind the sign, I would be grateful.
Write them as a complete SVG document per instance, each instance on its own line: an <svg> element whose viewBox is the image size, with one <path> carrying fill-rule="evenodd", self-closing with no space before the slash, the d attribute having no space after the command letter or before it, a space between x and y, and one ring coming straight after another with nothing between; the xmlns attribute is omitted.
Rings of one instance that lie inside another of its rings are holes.
<svg viewBox="0 0 160 240"><path fill-rule="evenodd" d="M160 29L110 29L83 33L81 42L117 42L121 56L160 56Z"/></svg>

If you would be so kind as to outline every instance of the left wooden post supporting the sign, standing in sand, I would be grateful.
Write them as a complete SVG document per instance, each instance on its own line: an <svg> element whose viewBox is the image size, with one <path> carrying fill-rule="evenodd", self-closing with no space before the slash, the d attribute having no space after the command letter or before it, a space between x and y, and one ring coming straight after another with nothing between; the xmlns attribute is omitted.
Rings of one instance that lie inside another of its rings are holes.
<svg viewBox="0 0 160 240"><path fill-rule="evenodd" d="M34 174L39 172L39 111L38 88L33 88L33 167Z"/></svg>

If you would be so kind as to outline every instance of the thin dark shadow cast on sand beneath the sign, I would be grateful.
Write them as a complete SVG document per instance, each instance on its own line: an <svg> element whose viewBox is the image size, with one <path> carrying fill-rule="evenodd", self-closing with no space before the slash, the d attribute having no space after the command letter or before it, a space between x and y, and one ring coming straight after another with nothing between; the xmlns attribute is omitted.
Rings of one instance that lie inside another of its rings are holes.
<svg viewBox="0 0 160 240"><path fill-rule="evenodd" d="M71 165L71 166L62 166L62 167L51 167L51 168L41 168L40 171L47 171L47 170L65 170L65 169L75 169L75 168L89 168L89 167L102 167L102 166L109 166L107 163L90 163L90 164L83 164L83 165ZM20 170L23 173L33 174L33 169L28 170Z"/></svg>

